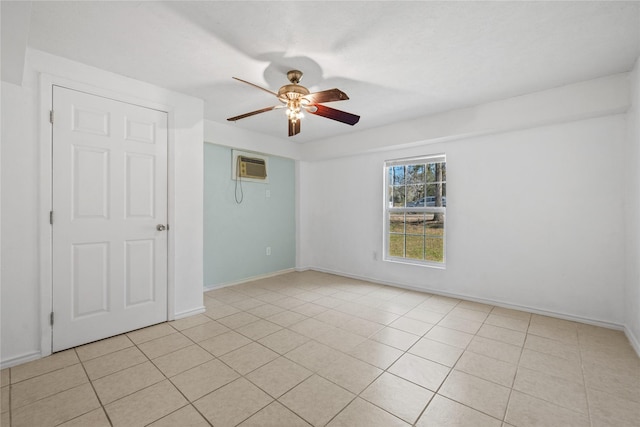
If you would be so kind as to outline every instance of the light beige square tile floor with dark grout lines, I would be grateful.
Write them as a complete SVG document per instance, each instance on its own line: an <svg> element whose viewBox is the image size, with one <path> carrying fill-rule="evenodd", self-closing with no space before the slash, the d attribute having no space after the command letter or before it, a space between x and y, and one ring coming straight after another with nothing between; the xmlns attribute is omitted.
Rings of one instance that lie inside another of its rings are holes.
<svg viewBox="0 0 640 427"><path fill-rule="evenodd" d="M2 370L2 426L639 426L624 334L318 272Z"/></svg>

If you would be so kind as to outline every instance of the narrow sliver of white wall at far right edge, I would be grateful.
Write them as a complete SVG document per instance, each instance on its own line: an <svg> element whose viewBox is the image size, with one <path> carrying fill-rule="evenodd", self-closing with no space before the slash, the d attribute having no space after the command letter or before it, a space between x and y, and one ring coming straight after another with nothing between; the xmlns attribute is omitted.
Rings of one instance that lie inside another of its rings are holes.
<svg viewBox="0 0 640 427"><path fill-rule="evenodd" d="M625 164L626 193L626 289L627 336L640 354L640 59L629 76L631 108L627 119Z"/></svg>

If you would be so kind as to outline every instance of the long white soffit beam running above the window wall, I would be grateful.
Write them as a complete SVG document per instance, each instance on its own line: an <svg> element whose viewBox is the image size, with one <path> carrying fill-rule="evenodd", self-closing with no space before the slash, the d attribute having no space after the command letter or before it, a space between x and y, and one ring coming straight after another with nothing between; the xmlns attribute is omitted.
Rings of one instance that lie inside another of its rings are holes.
<svg viewBox="0 0 640 427"><path fill-rule="evenodd" d="M628 73L614 74L307 143L301 147L301 156L317 160L408 148L619 114L628 107Z"/></svg>

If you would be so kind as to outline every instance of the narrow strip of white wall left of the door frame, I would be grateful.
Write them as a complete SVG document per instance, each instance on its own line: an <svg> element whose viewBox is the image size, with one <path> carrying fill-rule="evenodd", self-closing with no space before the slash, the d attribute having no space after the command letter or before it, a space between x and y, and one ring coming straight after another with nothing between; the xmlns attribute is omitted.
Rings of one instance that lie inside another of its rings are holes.
<svg viewBox="0 0 640 427"><path fill-rule="evenodd" d="M40 349L36 91L2 82L0 360ZM4 364L3 364L4 365Z"/></svg>

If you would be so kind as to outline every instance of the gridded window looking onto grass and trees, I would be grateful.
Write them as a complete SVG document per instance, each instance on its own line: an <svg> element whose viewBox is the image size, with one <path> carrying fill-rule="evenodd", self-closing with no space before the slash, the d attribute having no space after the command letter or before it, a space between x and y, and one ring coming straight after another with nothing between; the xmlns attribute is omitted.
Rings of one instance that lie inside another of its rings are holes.
<svg viewBox="0 0 640 427"><path fill-rule="evenodd" d="M389 160L385 177L385 260L443 266L445 156Z"/></svg>

